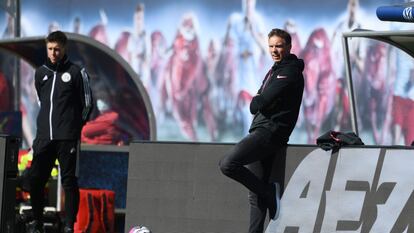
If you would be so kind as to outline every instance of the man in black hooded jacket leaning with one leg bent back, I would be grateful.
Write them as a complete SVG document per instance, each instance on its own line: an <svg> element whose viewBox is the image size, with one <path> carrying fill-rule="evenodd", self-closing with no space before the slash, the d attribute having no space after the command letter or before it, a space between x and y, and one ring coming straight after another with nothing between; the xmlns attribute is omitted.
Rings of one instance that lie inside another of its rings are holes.
<svg viewBox="0 0 414 233"><path fill-rule="evenodd" d="M269 176L277 149L287 144L295 127L304 88L304 63L290 53L290 35L273 29L268 45L275 63L250 103L254 118L249 135L220 161L223 174L250 190L249 232L263 232L268 209L270 218L278 217L280 187L270 184Z"/></svg>

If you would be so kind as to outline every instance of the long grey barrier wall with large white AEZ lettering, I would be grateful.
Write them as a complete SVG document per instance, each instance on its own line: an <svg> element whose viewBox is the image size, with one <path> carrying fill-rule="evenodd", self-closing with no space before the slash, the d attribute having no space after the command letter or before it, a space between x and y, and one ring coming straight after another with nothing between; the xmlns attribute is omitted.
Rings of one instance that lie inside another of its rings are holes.
<svg viewBox="0 0 414 233"><path fill-rule="evenodd" d="M134 142L130 145L125 229L246 232L248 191L226 178L219 159L231 144ZM277 152L283 155L283 151ZM283 156L282 156L283 157ZM414 150L353 147L331 154L291 145L279 219L271 232L413 232ZM280 170L280 169L279 169ZM281 177L284 176L284 177Z"/></svg>

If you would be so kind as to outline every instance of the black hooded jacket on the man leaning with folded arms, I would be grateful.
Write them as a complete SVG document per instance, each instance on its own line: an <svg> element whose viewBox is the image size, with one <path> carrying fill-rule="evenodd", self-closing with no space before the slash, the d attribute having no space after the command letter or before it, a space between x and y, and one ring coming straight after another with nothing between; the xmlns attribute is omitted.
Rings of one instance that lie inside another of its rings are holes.
<svg viewBox="0 0 414 233"><path fill-rule="evenodd" d="M287 143L302 102L304 67L303 60L294 54L273 65L269 80L263 80L258 95L250 103L250 112L255 114L250 132L264 128Z"/></svg>

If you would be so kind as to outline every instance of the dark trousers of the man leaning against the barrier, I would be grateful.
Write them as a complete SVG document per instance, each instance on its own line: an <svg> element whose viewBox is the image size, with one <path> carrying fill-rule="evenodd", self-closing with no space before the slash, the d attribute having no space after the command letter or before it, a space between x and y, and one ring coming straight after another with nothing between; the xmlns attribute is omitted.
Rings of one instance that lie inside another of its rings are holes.
<svg viewBox="0 0 414 233"><path fill-rule="evenodd" d="M259 129L243 138L220 161L224 175L250 190L250 233L263 232L267 213L266 196L271 188L269 177L276 151L284 145L267 130Z"/></svg>

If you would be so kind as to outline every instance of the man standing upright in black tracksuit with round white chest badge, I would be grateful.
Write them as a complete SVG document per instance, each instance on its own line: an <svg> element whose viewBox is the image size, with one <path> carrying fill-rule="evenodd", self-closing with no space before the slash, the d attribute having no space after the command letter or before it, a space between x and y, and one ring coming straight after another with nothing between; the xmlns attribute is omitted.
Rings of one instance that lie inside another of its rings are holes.
<svg viewBox="0 0 414 233"><path fill-rule="evenodd" d="M92 93L85 69L66 56L66 42L63 32L50 33L46 38L48 59L35 73L40 111L29 172L34 214L34 221L28 224L30 232L43 232L43 190L56 158L65 191L64 232L73 232L78 212L77 155L82 126L92 107Z"/></svg>

